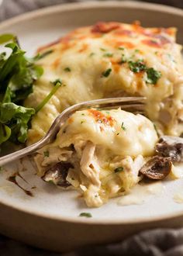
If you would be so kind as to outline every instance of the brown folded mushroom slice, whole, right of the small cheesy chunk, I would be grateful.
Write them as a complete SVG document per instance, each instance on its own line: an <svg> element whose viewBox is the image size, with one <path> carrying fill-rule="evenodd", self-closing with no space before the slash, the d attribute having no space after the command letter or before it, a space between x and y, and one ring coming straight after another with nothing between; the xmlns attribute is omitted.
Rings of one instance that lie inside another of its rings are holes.
<svg viewBox="0 0 183 256"><path fill-rule="evenodd" d="M169 158L155 156L143 164L140 173L150 179L163 179L171 172L171 167Z"/></svg>

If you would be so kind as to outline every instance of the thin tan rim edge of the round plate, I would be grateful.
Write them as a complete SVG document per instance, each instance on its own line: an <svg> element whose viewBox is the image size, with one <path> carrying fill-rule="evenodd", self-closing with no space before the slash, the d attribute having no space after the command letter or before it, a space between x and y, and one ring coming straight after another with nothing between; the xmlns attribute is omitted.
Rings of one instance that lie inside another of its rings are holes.
<svg viewBox="0 0 183 256"><path fill-rule="evenodd" d="M154 11L160 11L161 9L161 12L173 13L176 16L183 17L183 10L181 9L174 8L167 5L154 4L154 3L136 2L136 1L124 1L124 2L109 1L109 2L105 2L105 5L104 5L104 2L96 2L96 1L77 2L77 3L67 3L67 4L48 6L43 9L38 9L36 11L34 10L32 12L23 13L11 19L6 19L4 22L1 22L0 30L5 29L6 27L9 27L12 24L16 24L19 22L27 21L27 20L32 20L39 16L54 15L54 13L57 13L57 12L65 12L65 11L71 11L71 10L73 11L78 9L90 9L90 8L103 9L103 8L110 8L114 6L119 8L127 7L129 9L135 8L135 9L154 10ZM183 216L183 210L179 210L176 213L167 213L162 216L154 216L154 217L153 216L140 217L140 218L138 217L137 219L133 219L133 220L94 220L92 218L82 219L82 218L79 218L78 216L73 216L73 217L60 216L59 217L59 216L50 215L49 213L39 213L39 212L36 213L35 210L31 211L31 209L24 209L22 206L21 207L12 206L10 202L3 202L3 199L1 199L0 206L2 207L6 206L6 207L9 207L11 210L16 210L21 213L28 213L30 215L39 216L48 220L57 220L57 221L64 221L69 223L85 223L88 225L91 225L91 224L129 225L129 224L139 224L139 223L154 223L162 220L172 220L174 218Z"/></svg>

